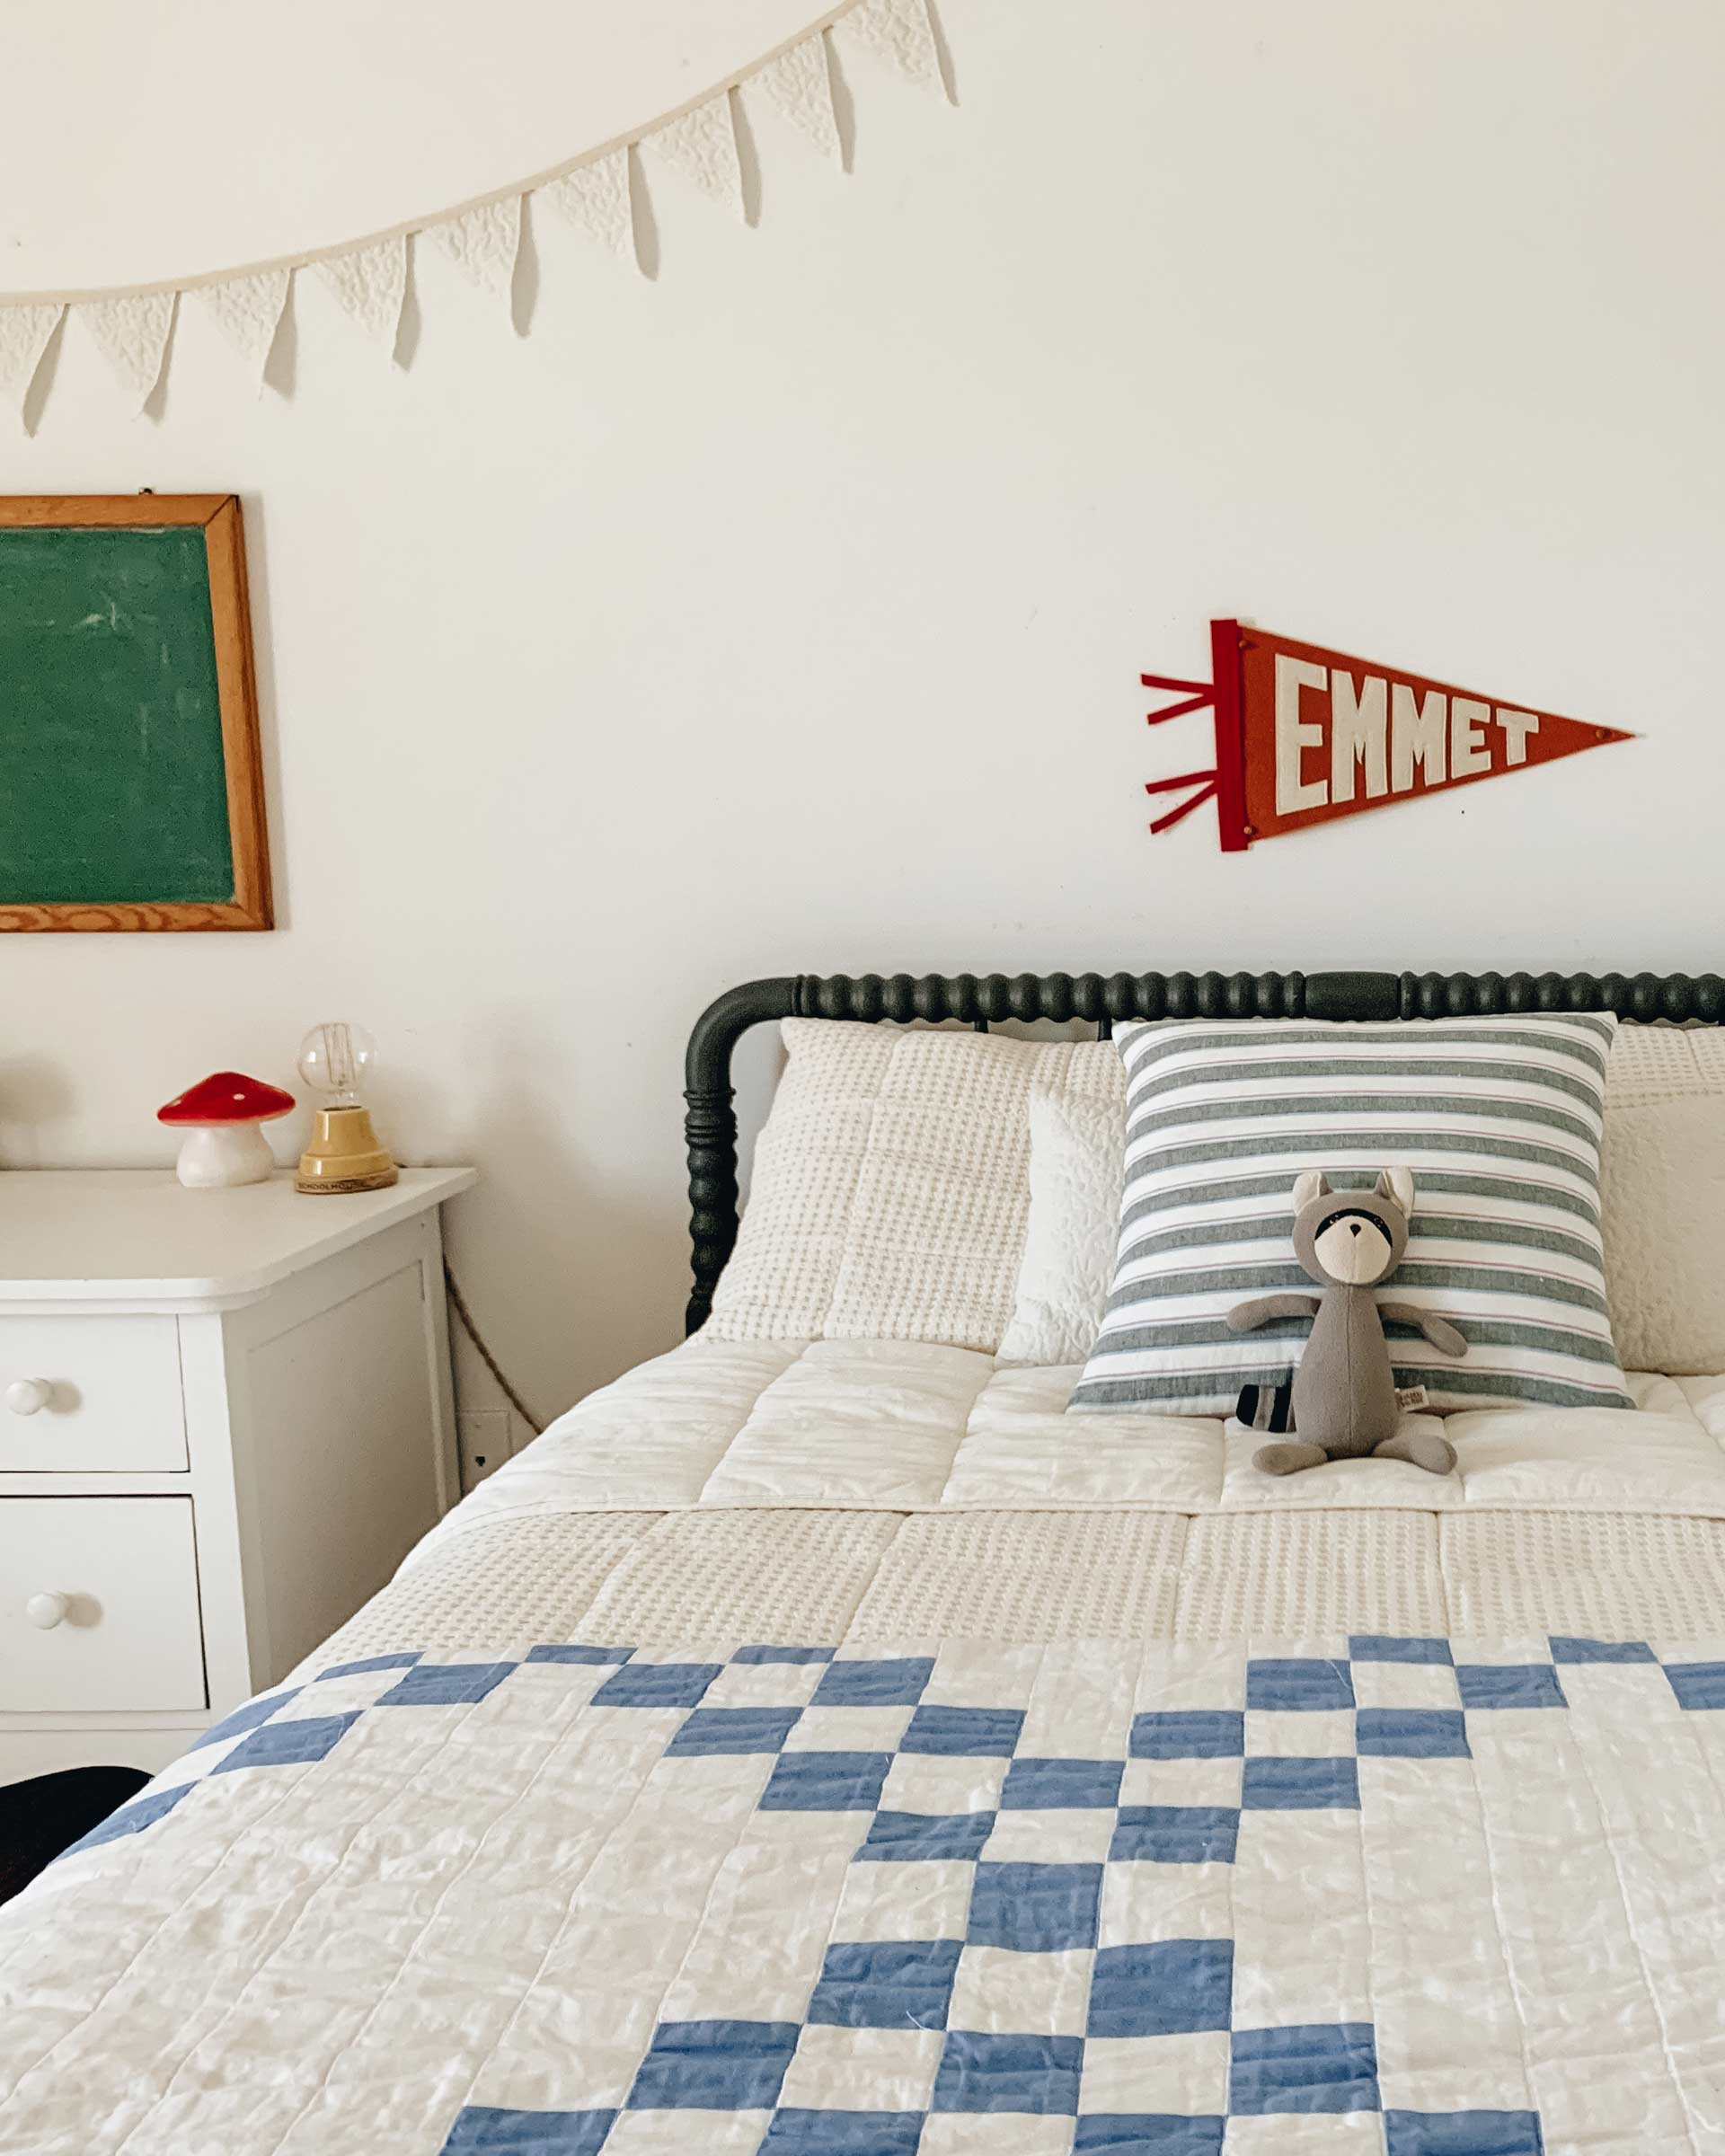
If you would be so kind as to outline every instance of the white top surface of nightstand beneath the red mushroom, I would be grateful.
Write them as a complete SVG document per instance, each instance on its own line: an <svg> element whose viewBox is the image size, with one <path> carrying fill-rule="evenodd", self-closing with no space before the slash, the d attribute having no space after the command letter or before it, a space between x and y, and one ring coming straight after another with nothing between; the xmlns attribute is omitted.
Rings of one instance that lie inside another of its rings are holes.
<svg viewBox="0 0 1725 2156"><path fill-rule="evenodd" d="M291 1169L237 1190L185 1190L172 1169L4 1169L0 1309L250 1302L474 1181L403 1169L388 1190L302 1197Z"/></svg>

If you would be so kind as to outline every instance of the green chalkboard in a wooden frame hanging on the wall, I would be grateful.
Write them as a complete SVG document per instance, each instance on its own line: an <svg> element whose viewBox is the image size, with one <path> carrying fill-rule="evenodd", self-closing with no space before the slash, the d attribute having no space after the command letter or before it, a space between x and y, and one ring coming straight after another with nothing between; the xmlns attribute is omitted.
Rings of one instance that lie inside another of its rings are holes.
<svg viewBox="0 0 1725 2156"><path fill-rule="evenodd" d="M185 500L231 511L231 545L209 517L144 522L149 500L132 524L0 524L0 925L265 925L229 768L254 716L224 709L250 696L250 640L235 666L235 593L211 595L231 554L244 610L237 505Z"/></svg>

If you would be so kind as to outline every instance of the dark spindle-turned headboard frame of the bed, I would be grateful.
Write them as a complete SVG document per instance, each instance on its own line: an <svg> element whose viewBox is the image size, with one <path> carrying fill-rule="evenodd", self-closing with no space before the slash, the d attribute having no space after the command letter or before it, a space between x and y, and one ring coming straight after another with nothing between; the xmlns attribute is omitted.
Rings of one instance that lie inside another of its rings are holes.
<svg viewBox="0 0 1725 2156"><path fill-rule="evenodd" d="M731 1052L778 1018L940 1024L988 1033L1000 1020L1082 1020L1106 1039L1123 1018L1484 1018L1615 1011L1637 1024L1725 1024L1716 972L862 972L744 981L709 1003L688 1039L690 1332L707 1322L737 1240L737 1115Z"/></svg>

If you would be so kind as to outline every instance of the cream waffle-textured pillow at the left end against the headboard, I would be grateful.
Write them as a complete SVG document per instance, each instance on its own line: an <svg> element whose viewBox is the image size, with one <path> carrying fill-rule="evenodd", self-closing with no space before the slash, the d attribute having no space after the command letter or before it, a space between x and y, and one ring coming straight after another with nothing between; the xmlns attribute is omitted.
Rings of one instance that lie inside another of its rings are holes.
<svg viewBox="0 0 1725 2156"><path fill-rule="evenodd" d="M1065 1095L1074 1059L1093 1084L1098 1044L819 1018L783 1037L709 1330L994 1354L1031 1214L1031 1093Z"/></svg>

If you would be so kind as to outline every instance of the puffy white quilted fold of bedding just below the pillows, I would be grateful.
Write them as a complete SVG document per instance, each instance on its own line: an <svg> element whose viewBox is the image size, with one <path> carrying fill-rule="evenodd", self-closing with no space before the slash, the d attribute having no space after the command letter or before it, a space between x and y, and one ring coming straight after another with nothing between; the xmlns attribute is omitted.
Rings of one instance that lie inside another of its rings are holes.
<svg viewBox="0 0 1725 2156"><path fill-rule="evenodd" d="M1276 1479L1261 1436L1169 1414L1067 1416L1078 1369L914 1341L686 1341L584 1399L442 1533L518 1511L1637 1511L1725 1518L1725 1378L1632 1378L1619 1408L1451 1414L1453 1475L1348 1460ZM436 1544L436 1537L431 1537Z"/></svg>

